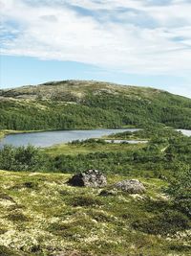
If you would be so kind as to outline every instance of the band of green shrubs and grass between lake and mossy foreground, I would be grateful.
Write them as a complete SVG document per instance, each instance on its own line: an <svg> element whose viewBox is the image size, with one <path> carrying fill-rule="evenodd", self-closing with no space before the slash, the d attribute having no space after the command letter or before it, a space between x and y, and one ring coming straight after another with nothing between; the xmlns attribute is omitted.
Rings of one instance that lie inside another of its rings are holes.
<svg viewBox="0 0 191 256"><path fill-rule="evenodd" d="M114 144L90 139L42 150L5 147L0 151L0 169L75 173L96 168L105 174L168 178L174 174L177 164L191 164L191 137L172 128L146 129L132 136L138 137L138 132L149 140L147 144Z"/></svg>

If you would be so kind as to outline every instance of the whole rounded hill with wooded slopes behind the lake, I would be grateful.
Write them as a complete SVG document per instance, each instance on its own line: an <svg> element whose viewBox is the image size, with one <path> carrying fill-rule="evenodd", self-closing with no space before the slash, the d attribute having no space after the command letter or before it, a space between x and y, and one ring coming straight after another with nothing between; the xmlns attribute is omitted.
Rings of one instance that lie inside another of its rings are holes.
<svg viewBox="0 0 191 256"><path fill-rule="evenodd" d="M191 128L191 99L100 81L52 81L0 90L0 128Z"/></svg>

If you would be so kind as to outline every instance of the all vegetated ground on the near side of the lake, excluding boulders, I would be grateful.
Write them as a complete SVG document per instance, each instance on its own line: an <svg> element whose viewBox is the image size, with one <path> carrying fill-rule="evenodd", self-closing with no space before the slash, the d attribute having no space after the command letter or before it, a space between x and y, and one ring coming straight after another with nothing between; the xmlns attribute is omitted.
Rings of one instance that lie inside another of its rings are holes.
<svg viewBox="0 0 191 256"><path fill-rule="evenodd" d="M190 255L191 137L161 126L110 138L148 143L0 150L0 170L10 171L0 171L0 255ZM107 175L106 188L67 185L90 168ZM146 193L114 190L127 178L138 178Z"/></svg>

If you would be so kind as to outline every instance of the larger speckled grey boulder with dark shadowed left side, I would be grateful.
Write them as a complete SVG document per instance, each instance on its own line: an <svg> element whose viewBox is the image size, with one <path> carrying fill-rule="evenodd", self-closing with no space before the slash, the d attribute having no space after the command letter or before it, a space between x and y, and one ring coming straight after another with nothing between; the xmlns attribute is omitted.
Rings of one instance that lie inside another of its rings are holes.
<svg viewBox="0 0 191 256"><path fill-rule="evenodd" d="M107 185L106 176L97 170L88 170L85 173L74 175L68 183L77 187L104 187Z"/></svg>

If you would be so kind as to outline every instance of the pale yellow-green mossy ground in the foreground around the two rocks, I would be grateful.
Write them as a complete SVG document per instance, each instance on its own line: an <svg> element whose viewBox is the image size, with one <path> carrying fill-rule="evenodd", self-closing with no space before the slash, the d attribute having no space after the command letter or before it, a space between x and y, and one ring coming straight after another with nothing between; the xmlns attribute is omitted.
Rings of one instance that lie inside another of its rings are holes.
<svg viewBox="0 0 191 256"><path fill-rule="evenodd" d="M164 181L139 178L141 196L100 196L102 189L68 186L70 176L0 171L0 255L190 255L190 221L171 215ZM104 190L124 178L109 175ZM160 225L164 218L170 226Z"/></svg>

